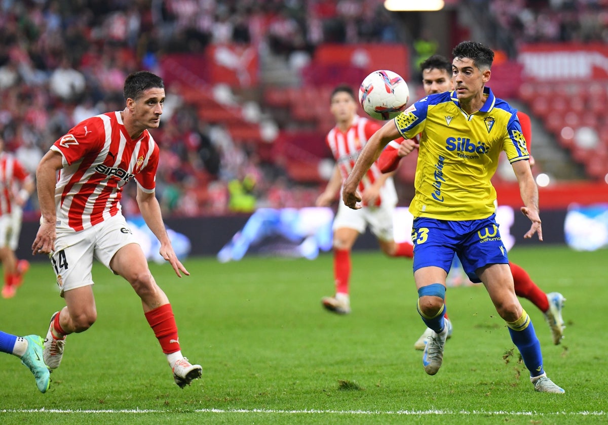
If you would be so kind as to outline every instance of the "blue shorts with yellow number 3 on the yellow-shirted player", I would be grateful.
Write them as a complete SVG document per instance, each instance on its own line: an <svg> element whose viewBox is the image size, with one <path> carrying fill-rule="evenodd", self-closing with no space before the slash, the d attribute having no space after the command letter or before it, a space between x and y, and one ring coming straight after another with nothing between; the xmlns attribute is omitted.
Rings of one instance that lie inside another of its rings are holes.
<svg viewBox="0 0 608 425"><path fill-rule="evenodd" d="M464 221L418 217L413 221L412 242L414 271L436 266L449 273L456 254L471 282L479 283L478 268L509 262L494 214Z"/></svg>

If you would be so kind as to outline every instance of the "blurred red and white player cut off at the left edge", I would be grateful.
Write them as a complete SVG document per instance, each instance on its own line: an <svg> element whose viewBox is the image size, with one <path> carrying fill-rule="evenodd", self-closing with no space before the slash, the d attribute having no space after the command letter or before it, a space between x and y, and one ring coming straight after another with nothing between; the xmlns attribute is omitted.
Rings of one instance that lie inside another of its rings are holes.
<svg viewBox="0 0 608 425"><path fill-rule="evenodd" d="M22 206L34 191L33 178L13 154L4 151L0 137L0 261L4 270L2 298L13 298L29 269L27 260L18 260L15 250L21 233Z"/></svg>

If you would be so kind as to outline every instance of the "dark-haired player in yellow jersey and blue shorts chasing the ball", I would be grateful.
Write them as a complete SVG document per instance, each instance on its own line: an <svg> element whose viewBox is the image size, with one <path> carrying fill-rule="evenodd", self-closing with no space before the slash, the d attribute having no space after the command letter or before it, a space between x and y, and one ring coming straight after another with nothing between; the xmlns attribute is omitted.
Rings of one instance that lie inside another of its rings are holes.
<svg viewBox="0 0 608 425"><path fill-rule="evenodd" d="M416 165L413 271L418 312L434 331L423 354L424 370L435 375L443 362L447 336L444 321L446 276L454 255L472 282L483 282L511 340L519 349L530 381L539 392L564 393L543 369L541 345L530 316L513 287L506 249L495 220L496 190L490 181L500 151L513 166L523 200L521 211L532 225L524 235L542 240L538 189L528 160L517 110L486 87L494 52L479 42L464 41L452 51L455 90L429 95L386 123L365 145L344 182L342 199L360 208L357 191L362 175L382 149L399 135L421 133Z"/></svg>

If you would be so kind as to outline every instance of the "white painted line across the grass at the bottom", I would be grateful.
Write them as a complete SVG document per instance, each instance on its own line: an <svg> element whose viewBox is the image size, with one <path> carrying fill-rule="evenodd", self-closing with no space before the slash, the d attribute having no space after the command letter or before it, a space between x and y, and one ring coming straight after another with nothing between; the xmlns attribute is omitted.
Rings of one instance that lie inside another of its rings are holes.
<svg viewBox="0 0 608 425"><path fill-rule="evenodd" d="M156 409L3 409L2 413L176 413L173 410L156 410ZM300 413L308 413L313 415L511 415L511 416L532 416L532 415L552 415L552 416L606 416L607 412L600 410L599 412L590 412L583 410L581 412L506 412L505 410L486 411L486 410L282 410L282 409L195 409L192 412L179 413L268 413L295 415Z"/></svg>

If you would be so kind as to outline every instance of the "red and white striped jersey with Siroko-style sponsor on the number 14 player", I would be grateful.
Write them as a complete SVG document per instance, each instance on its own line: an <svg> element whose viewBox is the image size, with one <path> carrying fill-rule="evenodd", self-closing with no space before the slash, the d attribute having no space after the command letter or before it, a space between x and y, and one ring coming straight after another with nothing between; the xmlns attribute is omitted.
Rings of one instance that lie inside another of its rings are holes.
<svg viewBox="0 0 608 425"><path fill-rule="evenodd" d="M133 177L140 189L154 192L158 146L147 130L132 140L120 111L78 123L50 149L63 155L55 188L59 228L79 231L116 216Z"/></svg>

